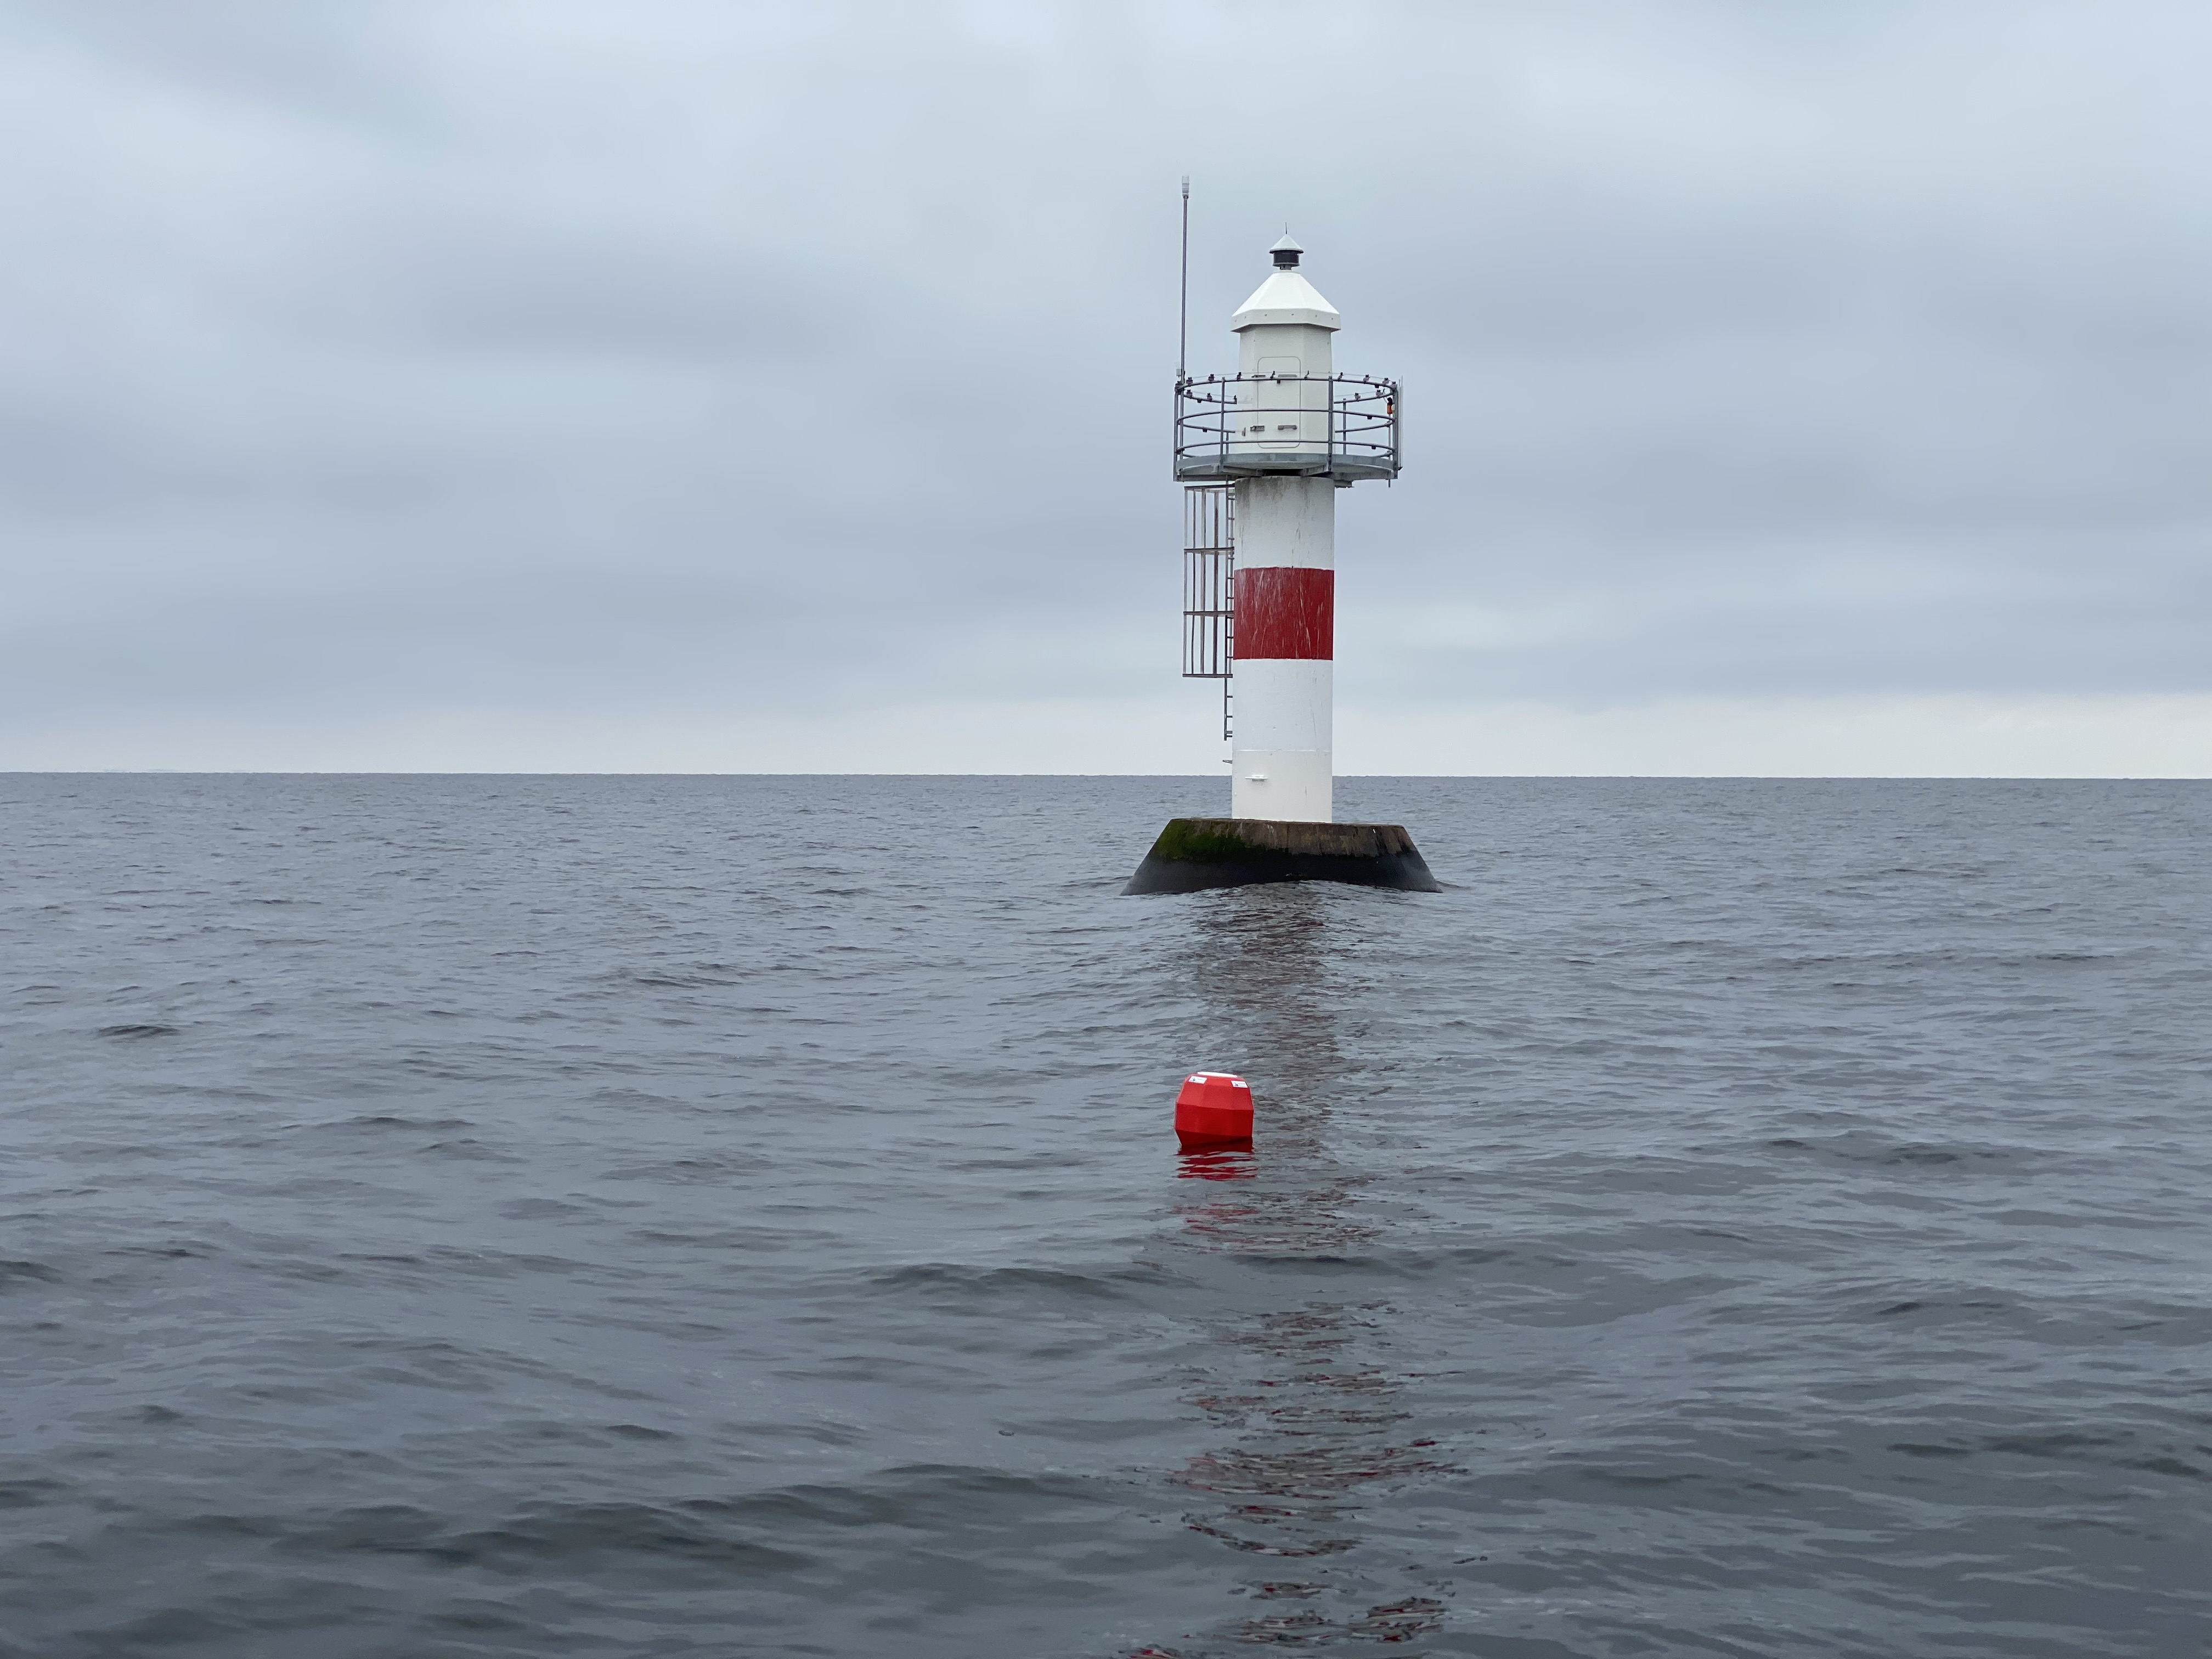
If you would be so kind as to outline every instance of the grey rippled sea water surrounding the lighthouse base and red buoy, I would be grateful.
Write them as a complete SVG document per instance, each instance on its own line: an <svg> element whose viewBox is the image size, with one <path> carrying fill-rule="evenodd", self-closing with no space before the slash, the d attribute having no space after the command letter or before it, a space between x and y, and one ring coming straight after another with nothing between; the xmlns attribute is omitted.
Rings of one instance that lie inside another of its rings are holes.
<svg viewBox="0 0 2212 1659"><path fill-rule="evenodd" d="M0 1655L2203 1648L2212 790L1219 794L0 779Z"/></svg>

